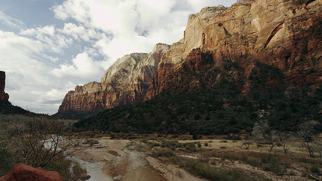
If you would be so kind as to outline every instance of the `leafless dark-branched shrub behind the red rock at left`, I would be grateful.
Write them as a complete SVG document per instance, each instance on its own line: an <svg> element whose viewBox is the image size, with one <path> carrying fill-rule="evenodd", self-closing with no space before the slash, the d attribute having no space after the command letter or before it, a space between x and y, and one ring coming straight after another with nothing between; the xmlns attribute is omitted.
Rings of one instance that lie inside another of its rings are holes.
<svg viewBox="0 0 322 181"><path fill-rule="evenodd" d="M45 167L71 156L78 138L66 134L65 120L33 118L7 126L9 153L15 162ZM65 132L65 135L63 133Z"/></svg>

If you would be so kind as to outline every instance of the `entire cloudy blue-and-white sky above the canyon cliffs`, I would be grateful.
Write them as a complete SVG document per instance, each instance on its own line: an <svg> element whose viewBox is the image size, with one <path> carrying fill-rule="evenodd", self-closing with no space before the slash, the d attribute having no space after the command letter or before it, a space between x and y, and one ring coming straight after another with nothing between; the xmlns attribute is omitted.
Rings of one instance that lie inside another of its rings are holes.
<svg viewBox="0 0 322 181"><path fill-rule="evenodd" d="M188 16L237 0L0 0L0 70L9 101L54 114L76 85L124 55L183 38Z"/></svg>

